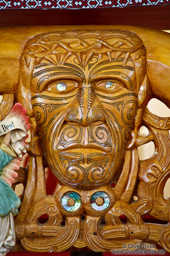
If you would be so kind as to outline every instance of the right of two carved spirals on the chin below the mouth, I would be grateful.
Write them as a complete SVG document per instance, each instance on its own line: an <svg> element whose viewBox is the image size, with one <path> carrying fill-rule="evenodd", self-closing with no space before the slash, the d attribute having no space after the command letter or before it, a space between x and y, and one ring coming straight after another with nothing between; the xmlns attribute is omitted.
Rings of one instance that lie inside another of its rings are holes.
<svg viewBox="0 0 170 256"><path fill-rule="evenodd" d="M87 180L90 184L100 183L105 178L105 170L102 166L92 166L87 173Z"/></svg>

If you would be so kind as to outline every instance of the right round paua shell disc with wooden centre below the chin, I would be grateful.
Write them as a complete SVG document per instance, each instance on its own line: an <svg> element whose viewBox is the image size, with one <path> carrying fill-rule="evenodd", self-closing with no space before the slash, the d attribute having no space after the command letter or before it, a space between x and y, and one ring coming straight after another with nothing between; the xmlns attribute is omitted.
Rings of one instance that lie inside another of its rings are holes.
<svg viewBox="0 0 170 256"><path fill-rule="evenodd" d="M104 211L109 203L109 196L105 192L96 192L91 197L91 206L96 211Z"/></svg>

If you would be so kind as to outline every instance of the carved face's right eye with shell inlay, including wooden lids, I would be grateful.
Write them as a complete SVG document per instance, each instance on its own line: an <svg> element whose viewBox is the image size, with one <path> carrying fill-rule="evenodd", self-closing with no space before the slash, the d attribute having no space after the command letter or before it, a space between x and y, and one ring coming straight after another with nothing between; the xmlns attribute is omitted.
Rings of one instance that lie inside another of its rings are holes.
<svg viewBox="0 0 170 256"><path fill-rule="evenodd" d="M96 88L99 91L103 91L105 93L114 93L120 91L124 88L124 86L119 81L102 81L96 84Z"/></svg>

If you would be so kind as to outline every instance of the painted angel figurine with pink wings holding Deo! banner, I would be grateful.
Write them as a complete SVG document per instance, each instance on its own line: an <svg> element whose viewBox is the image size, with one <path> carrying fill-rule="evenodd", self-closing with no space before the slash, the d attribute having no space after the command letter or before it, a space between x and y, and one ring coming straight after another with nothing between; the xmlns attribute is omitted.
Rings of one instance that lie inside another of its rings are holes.
<svg viewBox="0 0 170 256"><path fill-rule="evenodd" d="M18 213L20 199L11 186L26 153L28 120L26 109L16 103L0 122L0 256L5 256L15 244L13 215Z"/></svg>

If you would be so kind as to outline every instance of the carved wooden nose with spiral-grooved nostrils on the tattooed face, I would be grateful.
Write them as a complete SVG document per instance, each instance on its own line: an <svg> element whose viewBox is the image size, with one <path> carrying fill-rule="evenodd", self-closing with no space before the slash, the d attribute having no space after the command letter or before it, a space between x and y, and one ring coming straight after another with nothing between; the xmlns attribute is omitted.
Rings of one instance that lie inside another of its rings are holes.
<svg viewBox="0 0 170 256"><path fill-rule="evenodd" d="M83 127L105 121L105 111L96 97L94 88L79 89L78 97L69 108L65 121Z"/></svg>

